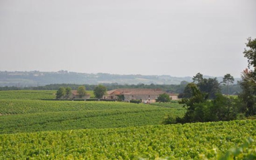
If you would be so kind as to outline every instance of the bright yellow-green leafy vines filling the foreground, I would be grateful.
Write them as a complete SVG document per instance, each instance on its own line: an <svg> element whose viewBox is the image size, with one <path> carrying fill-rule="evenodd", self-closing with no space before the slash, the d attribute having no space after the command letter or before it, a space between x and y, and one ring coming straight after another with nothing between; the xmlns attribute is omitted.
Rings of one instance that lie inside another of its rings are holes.
<svg viewBox="0 0 256 160"><path fill-rule="evenodd" d="M0 135L0 159L216 159L256 139L255 127L231 121Z"/></svg>

